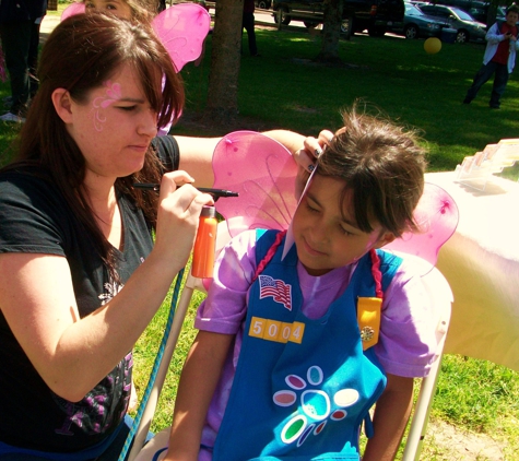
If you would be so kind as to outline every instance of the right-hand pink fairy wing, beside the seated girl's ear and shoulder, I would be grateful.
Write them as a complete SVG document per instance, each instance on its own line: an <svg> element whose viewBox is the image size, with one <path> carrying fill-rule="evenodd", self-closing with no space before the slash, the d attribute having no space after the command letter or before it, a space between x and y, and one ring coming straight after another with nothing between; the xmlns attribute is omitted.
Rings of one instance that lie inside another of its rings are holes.
<svg viewBox="0 0 519 461"><path fill-rule="evenodd" d="M414 216L421 232L405 233L385 249L414 255L435 265L439 249L458 226L458 206L444 189L426 182Z"/></svg>

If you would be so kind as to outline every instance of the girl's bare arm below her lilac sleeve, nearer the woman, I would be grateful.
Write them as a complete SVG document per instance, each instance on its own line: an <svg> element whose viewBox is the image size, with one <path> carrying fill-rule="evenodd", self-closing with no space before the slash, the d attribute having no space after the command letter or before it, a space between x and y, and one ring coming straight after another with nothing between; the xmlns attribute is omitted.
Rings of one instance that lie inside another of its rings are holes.
<svg viewBox="0 0 519 461"><path fill-rule="evenodd" d="M180 376L164 461L197 461L205 415L233 338L199 331Z"/></svg>

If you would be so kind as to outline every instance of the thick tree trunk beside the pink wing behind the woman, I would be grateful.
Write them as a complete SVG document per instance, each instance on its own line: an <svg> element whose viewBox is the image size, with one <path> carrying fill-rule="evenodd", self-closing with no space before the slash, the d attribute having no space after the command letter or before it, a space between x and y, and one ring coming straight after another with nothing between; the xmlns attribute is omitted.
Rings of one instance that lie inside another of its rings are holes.
<svg viewBox="0 0 519 461"><path fill-rule="evenodd" d="M215 9L208 104L203 118L225 125L238 114L244 0L219 0Z"/></svg>

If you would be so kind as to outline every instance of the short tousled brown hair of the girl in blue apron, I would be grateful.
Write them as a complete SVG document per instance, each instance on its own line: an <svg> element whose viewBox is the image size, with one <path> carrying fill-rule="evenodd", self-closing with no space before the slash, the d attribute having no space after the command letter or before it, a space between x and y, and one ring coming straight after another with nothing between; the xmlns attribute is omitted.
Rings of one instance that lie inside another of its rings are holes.
<svg viewBox="0 0 519 461"><path fill-rule="evenodd" d="M379 223L399 237L417 230L413 211L424 190L424 149L414 131L380 117L357 111L342 114L339 130L318 161L317 174L345 181L342 201L352 192L354 217L361 230Z"/></svg>

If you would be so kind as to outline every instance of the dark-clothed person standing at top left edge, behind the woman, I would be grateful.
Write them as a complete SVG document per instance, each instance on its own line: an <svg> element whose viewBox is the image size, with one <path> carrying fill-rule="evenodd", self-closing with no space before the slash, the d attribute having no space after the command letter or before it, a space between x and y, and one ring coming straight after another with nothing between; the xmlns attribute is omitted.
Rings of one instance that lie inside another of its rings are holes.
<svg viewBox="0 0 519 461"><path fill-rule="evenodd" d="M47 0L0 2L0 38L12 97L9 111L0 116L2 121L25 121L31 95L37 90L36 82L30 76L30 68L34 66L34 40L39 39L39 25L36 26L36 21L45 16L46 11Z"/></svg>

